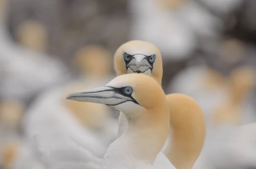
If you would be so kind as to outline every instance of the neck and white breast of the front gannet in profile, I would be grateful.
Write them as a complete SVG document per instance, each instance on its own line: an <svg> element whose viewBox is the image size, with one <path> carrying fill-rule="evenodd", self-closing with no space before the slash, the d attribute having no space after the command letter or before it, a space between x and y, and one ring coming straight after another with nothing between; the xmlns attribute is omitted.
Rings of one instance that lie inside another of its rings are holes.
<svg viewBox="0 0 256 169"><path fill-rule="evenodd" d="M145 113L136 119L128 118L127 129L109 146L102 168L136 168L139 163L153 164L169 131L168 109L164 111L159 112L165 114L162 117Z"/></svg>

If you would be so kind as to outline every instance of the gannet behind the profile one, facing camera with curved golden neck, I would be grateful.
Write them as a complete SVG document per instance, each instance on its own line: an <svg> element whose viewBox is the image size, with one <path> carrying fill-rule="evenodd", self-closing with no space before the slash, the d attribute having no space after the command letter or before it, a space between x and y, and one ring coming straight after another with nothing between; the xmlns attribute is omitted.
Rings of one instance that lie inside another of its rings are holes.
<svg viewBox="0 0 256 169"><path fill-rule="evenodd" d="M161 85L163 66L158 48L139 40L127 42L115 53L114 65L117 76L126 73L143 73L154 78ZM176 168L191 168L204 145L205 121L204 114L198 103L183 94L166 96L170 111L172 139L166 141L166 156ZM118 136L127 127L127 119L120 112Z"/></svg>

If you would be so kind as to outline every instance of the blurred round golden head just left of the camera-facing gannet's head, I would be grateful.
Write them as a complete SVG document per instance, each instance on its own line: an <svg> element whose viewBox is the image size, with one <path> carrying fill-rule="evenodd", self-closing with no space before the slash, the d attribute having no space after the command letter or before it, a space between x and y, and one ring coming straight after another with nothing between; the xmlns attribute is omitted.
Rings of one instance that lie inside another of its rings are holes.
<svg viewBox="0 0 256 169"><path fill-rule="evenodd" d="M101 78L111 73L112 55L108 49L98 45L88 45L76 53L76 65L90 78Z"/></svg>

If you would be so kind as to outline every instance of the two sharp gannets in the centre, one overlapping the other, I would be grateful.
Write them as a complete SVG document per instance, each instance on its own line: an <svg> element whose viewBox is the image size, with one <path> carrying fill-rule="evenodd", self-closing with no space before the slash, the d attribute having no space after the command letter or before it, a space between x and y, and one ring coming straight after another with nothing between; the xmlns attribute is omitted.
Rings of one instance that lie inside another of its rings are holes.
<svg viewBox="0 0 256 169"><path fill-rule="evenodd" d="M102 168L192 168L204 145L204 114L189 96L165 95L159 49L149 42L127 42L116 51L114 65L117 77L104 87L67 96L120 111L118 138Z"/></svg>

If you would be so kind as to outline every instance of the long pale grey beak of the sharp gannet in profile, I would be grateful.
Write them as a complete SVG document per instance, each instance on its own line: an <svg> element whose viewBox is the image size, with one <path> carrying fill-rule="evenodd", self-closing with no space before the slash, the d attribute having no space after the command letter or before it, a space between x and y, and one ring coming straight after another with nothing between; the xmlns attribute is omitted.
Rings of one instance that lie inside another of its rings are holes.
<svg viewBox="0 0 256 169"><path fill-rule="evenodd" d="M134 101L132 97L119 94L116 88L106 86L70 93L66 99L106 104L108 106L116 106L126 101Z"/></svg>

